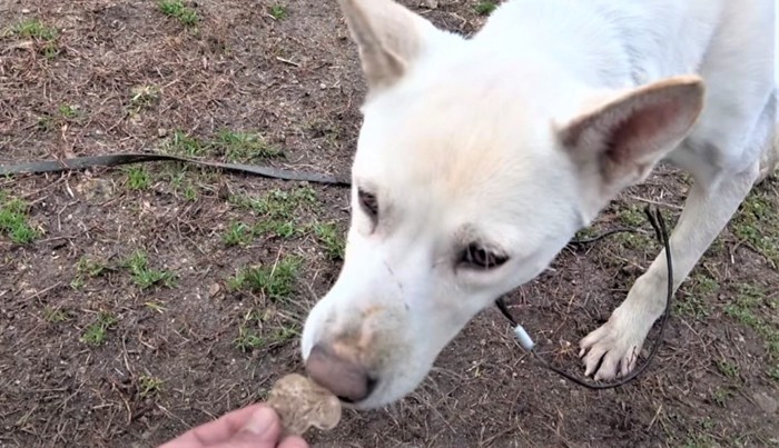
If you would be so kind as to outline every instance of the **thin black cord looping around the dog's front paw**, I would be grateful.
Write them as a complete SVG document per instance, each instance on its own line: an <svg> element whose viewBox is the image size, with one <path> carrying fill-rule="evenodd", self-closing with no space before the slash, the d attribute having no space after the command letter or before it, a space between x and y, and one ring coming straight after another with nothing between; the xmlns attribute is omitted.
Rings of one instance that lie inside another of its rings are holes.
<svg viewBox="0 0 779 448"><path fill-rule="evenodd" d="M588 389L612 389L615 387L624 386L625 384L634 380L639 375L643 374L644 370L649 367L651 364L652 359L654 358L654 355L658 352L658 349L660 348L660 344L662 344L663 339L663 333L665 332L665 325L668 323L668 317L670 315L671 310L671 299L673 298L673 265L671 263L671 243L669 242L668 238L668 229L665 228L665 221L662 218L662 213L660 213L660 210L654 210L648 206L644 209L644 212L647 213L647 217L649 218L649 222L652 225L652 228L654 229L655 236L658 240L664 246L665 248L665 261L668 263L668 290L667 290L667 300L665 300L665 309L662 315L662 320L660 321L660 333L658 335L657 340L654 341L654 346L652 347L652 350L650 351L649 356L647 357L647 361L637 370L633 370L632 374L629 376L624 377L622 380L618 382L610 382L610 384L596 384L596 382L589 382L583 379L576 378L573 375L554 367L546 362L541 356L539 356L538 350L535 349L534 346L531 346L530 348L530 354L533 356L533 358L542 366L545 367L553 372L560 375L561 377L575 382L579 386L583 386ZM595 238L600 239L600 238ZM594 240L594 239L593 239ZM497 309L505 316L505 318L514 326L515 331L521 331L526 336L524 332L524 329L522 326L520 326L516 320L512 317L511 312L509 311L509 308L506 307L505 302L503 301L503 297L499 298L495 300L495 305L497 306ZM520 336L517 338L522 339ZM527 340L530 340L527 338ZM531 342L532 345L532 342ZM524 344L523 344L524 346ZM638 356L638 354L637 354Z"/></svg>

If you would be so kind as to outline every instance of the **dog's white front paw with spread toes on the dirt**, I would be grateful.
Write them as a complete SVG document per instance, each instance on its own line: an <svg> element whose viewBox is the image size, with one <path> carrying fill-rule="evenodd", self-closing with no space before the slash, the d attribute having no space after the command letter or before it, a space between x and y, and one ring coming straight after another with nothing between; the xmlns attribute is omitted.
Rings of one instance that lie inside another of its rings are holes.
<svg viewBox="0 0 779 448"><path fill-rule="evenodd" d="M641 346L650 326L618 308L603 326L582 339L579 352L584 361L584 376L611 380L624 377L635 368Z"/></svg>

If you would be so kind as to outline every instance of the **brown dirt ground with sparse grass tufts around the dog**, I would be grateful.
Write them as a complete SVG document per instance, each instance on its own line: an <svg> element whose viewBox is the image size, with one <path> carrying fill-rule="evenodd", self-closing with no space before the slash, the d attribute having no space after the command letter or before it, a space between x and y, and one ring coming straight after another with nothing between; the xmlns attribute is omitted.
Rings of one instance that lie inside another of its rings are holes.
<svg viewBox="0 0 779 448"><path fill-rule="evenodd" d="M347 175L365 87L335 1L0 0L0 163L120 151ZM472 33L474 0L404 1ZM165 10L165 11L164 11ZM659 251L661 167L510 297L558 366ZM485 310L425 384L348 411L332 447L779 446L779 182L760 186L677 295L634 382L590 391ZM337 276L346 189L176 163L0 179L0 446L151 447L302 371L298 331ZM4 213L4 215L3 215ZM4 217L4 218L3 218Z"/></svg>

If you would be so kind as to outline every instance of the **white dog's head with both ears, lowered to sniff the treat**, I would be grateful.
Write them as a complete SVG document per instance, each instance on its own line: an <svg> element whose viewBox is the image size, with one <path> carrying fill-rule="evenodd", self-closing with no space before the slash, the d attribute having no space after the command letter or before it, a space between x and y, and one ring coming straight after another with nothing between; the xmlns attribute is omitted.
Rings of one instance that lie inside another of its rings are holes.
<svg viewBox="0 0 779 448"><path fill-rule="evenodd" d="M595 91L559 60L445 33L391 0L342 7L369 92L344 267L303 355L316 381L373 408L416 388L470 319L645 178L703 89L687 77Z"/></svg>

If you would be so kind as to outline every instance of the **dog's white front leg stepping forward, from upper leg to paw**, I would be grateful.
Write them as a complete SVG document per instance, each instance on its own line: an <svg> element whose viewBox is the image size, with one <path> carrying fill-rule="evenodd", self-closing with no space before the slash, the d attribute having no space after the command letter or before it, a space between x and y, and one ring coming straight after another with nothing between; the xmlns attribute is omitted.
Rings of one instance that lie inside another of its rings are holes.
<svg viewBox="0 0 779 448"><path fill-rule="evenodd" d="M748 172L720 178L714 187L696 182L690 189L670 243L676 290L698 263L703 252L736 213L758 177L758 167ZM581 341L585 375L612 379L635 366L643 340L665 308L668 265L664 250L609 318ZM601 361L602 360L602 361Z"/></svg>

